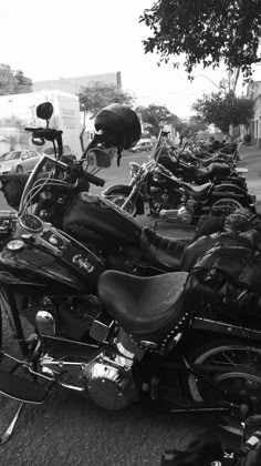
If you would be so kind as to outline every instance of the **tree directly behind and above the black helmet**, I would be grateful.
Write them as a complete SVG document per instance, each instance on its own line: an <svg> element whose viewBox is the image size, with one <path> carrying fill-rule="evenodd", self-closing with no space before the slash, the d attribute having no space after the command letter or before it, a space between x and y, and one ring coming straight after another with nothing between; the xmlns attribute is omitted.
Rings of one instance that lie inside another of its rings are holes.
<svg viewBox="0 0 261 466"><path fill-rule="evenodd" d="M100 81L82 88L79 98L84 110L92 115L111 103L125 103L132 107L135 101L135 97L128 92L119 91L116 85Z"/></svg>

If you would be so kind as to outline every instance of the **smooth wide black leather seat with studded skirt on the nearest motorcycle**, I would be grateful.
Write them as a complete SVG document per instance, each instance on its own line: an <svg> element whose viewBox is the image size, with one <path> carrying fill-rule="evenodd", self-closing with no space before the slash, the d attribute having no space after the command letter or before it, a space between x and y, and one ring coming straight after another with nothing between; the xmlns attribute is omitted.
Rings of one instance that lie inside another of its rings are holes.
<svg viewBox="0 0 261 466"><path fill-rule="evenodd" d="M187 277L187 272L139 277L105 271L98 280L98 297L129 335L158 336L158 331L163 330L165 336L175 326L178 333L188 320L181 298Z"/></svg>

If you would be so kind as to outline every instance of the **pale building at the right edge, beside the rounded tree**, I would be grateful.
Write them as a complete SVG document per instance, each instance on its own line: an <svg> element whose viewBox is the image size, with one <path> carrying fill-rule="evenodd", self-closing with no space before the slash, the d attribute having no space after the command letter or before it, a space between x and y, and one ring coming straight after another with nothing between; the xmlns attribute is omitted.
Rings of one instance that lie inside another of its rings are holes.
<svg viewBox="0 0 261 466"><path fill-rule="evenodd" d="M253 99L253 116L250 121L251 142L261 148L261 81L249 83L247 95Z"/></svg>

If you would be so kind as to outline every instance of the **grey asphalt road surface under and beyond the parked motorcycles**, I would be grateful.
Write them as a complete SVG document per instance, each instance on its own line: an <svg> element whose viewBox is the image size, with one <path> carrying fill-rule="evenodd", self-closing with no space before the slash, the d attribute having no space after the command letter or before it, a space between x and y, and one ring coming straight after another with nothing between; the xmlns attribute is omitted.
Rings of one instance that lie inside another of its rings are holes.
<svg viewBox="0 0 261 466"><path fill-rule="evenodd" d="M260 151L242 154L239 166L250 166L251 191L261 199ZM135 155L136 158L136 155ZM138 155L146 160L147 154ZM123 158L121 182L128 180L127 165L134 155ZM137 160L137 159L136 159ZM119 173L119 172L118 172ZM109 178L111 176L111 178ZM106 181L119 174L107 171ZM0 207L7 209L1 199ZM148 221L149 222L149 221ZM163 234L184 237L191 231L175 225L159 225ZM12 345L8 338L8 345ZM18 402L0 397L0 433L10 423ZM164 449L184 447L199 429L209 426L211 418L201 415L158 413L139 405L112 413L94 406L71 392L55 389L41 406L27 405L15 425L11 439L0 446L2 466L157 466ZM221 435L225 444L232 437Z"/></svg>

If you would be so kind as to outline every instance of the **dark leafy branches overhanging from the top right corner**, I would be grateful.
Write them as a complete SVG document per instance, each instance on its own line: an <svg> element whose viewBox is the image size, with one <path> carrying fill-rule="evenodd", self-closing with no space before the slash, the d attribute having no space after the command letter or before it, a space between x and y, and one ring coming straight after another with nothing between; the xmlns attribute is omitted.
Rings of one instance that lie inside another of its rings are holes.
<svg viewBox="0 0 261 466"><path fill-rule="evenodd" d="M145 52L159 53L159 63L182 54L189 75L197 64L225 62L230 71L241 68L247 79L261 61L260 0L158 0L139 21L153 32L143 41Z"/></svg>

